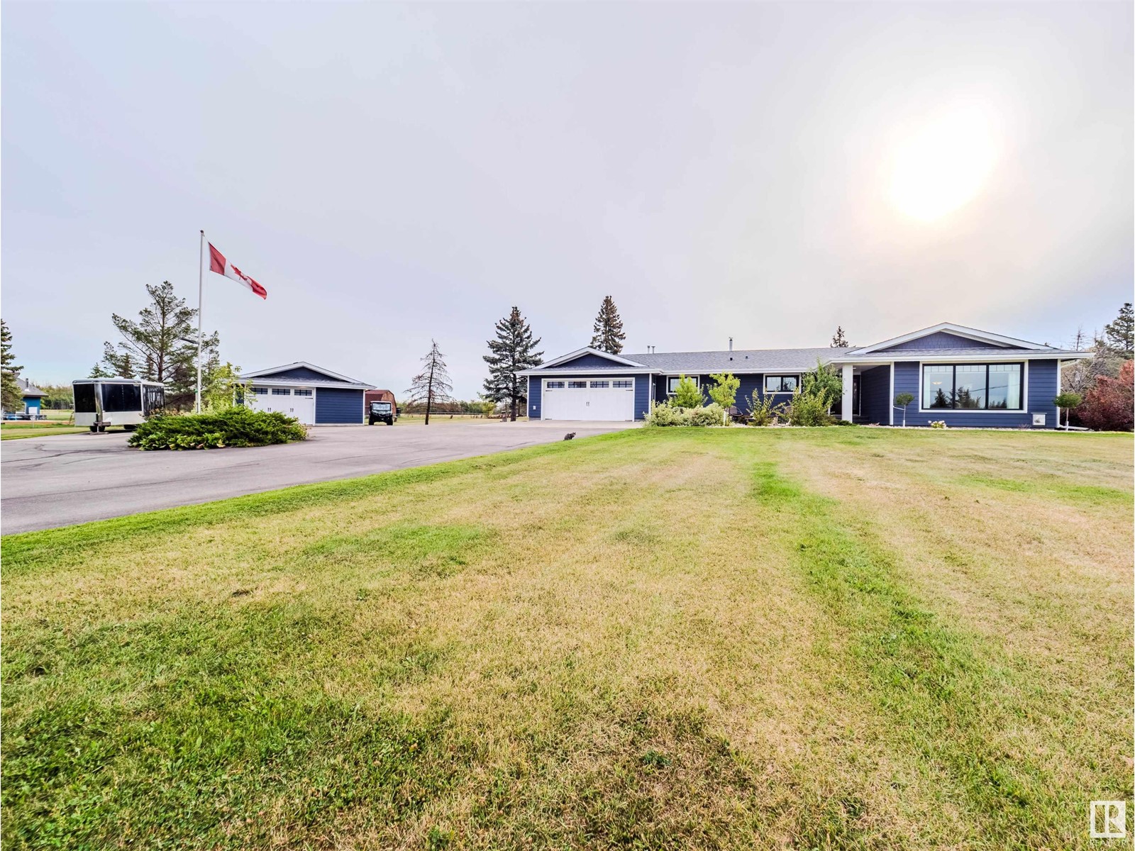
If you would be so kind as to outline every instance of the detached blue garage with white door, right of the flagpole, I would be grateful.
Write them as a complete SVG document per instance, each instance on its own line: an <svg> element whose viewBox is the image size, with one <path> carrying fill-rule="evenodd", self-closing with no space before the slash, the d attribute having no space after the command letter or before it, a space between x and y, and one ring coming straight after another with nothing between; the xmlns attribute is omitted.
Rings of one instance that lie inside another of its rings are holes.
<svg viewBox="0 0 1135 851"><path fill-rule="evenodd" d="M245 372L246 404L257 411L279 411L305 426L361 426L365 422L363 394L371 389L338 372L306 361Z"/></svg>

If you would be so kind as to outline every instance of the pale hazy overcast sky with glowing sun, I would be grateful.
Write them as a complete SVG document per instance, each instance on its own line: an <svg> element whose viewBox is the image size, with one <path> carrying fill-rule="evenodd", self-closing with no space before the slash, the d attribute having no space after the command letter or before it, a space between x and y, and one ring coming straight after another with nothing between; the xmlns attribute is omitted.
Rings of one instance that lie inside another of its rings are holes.
<svg viewBox="0 0 1135 851"><path fill-rule="evenodd" d="M518 305L546 359L1060 344L1133 290L1133 19L1112 3L3 5L0 311L68 382L205 272L245 370L455 395Z"/></svg>

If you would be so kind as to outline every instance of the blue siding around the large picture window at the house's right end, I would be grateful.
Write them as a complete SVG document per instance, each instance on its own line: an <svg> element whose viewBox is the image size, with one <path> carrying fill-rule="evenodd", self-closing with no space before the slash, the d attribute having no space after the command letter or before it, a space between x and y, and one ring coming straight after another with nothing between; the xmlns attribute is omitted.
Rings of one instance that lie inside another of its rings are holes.
<svg viewBox="0 0 1135 851"><path fill-rule="evenodd" d="M1046 428L1057 424L1057 407L1052 399L1059 393L1057 362L1027 361L1028 406L1025 411L958 411L952 408L920 411L922 364L917 361L899 361L894 364L894 395L909 393L915 401L907 408L907 426L928 426L931 421L943 421L947 426L960 428ZM901 422L902 412L896 411L896 422ZM1033 414L1044 414L1044 426L1033 426Z"/></svg>

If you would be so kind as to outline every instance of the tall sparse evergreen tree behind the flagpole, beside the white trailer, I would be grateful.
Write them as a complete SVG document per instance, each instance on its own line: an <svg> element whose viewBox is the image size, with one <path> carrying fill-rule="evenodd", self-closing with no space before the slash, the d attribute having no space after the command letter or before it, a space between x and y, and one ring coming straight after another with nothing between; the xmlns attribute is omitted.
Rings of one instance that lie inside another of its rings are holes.
<svg viewBox="0 0 1135 851"><path fill-rule="evenodd" d="M112 376L161 381L166 385L167 403L186 407L196 394L197 311L174 294L174 285L168 280L148 284L146 293L150 305L138 312L137 321L111 314L121 339L117 346L103 344L102 363ZM219 364L217 347L216 334L203 337L203 364ZM204 380L202 376L202 384Z"/></svg>

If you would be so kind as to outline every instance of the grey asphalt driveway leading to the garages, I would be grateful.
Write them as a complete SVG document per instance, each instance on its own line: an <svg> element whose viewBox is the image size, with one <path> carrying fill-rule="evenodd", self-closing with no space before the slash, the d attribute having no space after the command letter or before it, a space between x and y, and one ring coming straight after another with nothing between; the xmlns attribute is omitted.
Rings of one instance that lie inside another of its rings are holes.
<svg viewBox="0 0 1135 851"><path fill-rule="evenodd" d="M333 479L633 428L636 423L452 422L316 428L301 444L138 452L125 433L59 435L0 446L0 532L194 505Z"/></svg>

